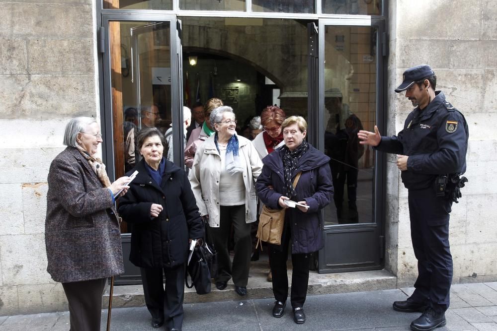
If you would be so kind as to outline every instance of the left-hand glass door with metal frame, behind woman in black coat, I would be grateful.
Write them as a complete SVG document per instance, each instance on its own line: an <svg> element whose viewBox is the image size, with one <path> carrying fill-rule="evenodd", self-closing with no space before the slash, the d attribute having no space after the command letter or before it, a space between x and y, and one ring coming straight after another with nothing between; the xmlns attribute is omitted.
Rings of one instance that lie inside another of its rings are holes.
<svg viewBox="0 0 497 331"><path fill-rule="evenodd" d="M147 127L172 131L173 158L183 160L181 22L175 15L102 14L104 103L110 178L118 178L139 162L138 132ZM100 33L102 35L102 33ZM180 130L178 130L178 128ZM111 132L112 134L109 134ZM165 150L166 155L166 150ZM140 270L129 256L130 230L121 224L125 274L119 284L140 282Z"/></svg>

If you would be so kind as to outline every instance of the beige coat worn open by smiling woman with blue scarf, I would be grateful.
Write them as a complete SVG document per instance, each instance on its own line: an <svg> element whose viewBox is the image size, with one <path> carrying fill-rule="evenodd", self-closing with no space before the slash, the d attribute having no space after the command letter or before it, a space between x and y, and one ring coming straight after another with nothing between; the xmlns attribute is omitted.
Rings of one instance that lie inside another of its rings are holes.
<svg viewBox="0 0 497 331"><path fill-rule="evenodd" d="M262 162L250 140L238 135L238 141L240 159L245 164L243 173L245 219L247 223L251 223L257 219L257 198L255 196L254 182L259 177ZM214 134L198 147L188 178L200 215L209 215L209 226L218 228L221 156L214 143Z"/></svg>

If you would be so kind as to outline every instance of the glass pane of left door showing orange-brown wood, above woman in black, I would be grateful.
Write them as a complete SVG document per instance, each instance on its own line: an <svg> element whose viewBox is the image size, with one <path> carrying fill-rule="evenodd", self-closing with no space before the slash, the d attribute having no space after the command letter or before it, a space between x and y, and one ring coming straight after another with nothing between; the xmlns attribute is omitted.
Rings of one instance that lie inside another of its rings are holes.
<svg viewBox="0 0 497 331"><path fill-rule="evenodd" d="M139 161L137 133L171 123L169 22L109 22L115 177ZM166 151L165 151L166 153ZM123 222L121 231L128 232Z"/></svg>

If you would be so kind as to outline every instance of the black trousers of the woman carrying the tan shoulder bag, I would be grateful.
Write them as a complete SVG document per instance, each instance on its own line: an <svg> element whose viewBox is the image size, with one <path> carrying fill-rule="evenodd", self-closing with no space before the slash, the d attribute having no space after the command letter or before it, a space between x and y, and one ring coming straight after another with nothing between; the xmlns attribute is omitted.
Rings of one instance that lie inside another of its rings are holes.
<svg viewBox="0 0 497 331"><path fill-rule="evenodd" d="M276 301L285 302L288 298L288 273L286 261L288 260L288 246L292 236L290 226L285 220L285 233L281 238L281 246L269 244L271 250L271 273L273 277L273 294ZM309 284L309 261L311 254L292 254L292 292L290 301L292 308L303 307L307 297Z"/></svg>

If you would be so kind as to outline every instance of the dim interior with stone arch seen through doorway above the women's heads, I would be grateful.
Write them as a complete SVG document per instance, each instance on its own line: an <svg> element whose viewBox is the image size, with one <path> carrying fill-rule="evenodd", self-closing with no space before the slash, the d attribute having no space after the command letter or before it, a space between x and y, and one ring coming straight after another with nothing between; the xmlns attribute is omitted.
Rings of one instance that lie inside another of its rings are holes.
<svg viewBox="0 0 497 331"><path fill-rule="evenodd" d="M179 19L187 105L205 104L211 97L223 100L234 109L239 134L249 139L249 121L266 106L277 104L287 116L307 118L306 24L269 18Z"/></svg>

